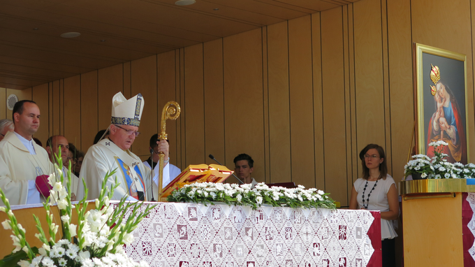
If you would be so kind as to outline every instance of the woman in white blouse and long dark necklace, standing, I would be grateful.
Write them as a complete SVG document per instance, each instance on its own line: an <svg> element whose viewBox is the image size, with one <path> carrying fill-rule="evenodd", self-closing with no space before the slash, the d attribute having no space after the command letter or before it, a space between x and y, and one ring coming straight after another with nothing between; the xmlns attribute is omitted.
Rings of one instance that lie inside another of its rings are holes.
<svg viewBox="0 0 475 267"><path fill-rule="evenodd" d="M383 266L395 266L394 230L392 220L399 216L399 201L394 179L388 174L383 147L367 145L360 152L363 177L353 184L350 209L381 211L381 245Z"/></svg>

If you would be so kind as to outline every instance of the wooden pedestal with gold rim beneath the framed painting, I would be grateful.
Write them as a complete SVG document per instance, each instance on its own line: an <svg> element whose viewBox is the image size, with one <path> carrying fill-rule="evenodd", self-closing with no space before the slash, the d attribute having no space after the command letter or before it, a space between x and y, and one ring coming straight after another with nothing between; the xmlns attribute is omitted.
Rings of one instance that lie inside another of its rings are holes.
<svg viewBox="0 0 475 267"><path fill-rule="evenodd" d="M404 266L463 266L462 192L465 179L400 182Z"/></svg>

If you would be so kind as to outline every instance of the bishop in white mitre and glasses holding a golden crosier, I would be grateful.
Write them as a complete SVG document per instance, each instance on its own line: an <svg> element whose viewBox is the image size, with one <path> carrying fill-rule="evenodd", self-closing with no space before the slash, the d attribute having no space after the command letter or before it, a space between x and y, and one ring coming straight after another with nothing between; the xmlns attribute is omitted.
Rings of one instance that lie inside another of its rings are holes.
<svg viewBox="0 0 475 267"><path fill-rule="evenodd" d="M141 94L127 100L119 92L112 98L112 120L106 131L109 136L90 147L82 161L79 177L85 179L89 190L87 199L98 198L105 174L114 170L115 175L107 181L110 188L115 185L117 176L119 187L115 189L112 199L119 200L126 196L129 201L150 201L152 197L157 198L158 187L155 182L152 183L152 171L129 150L140 134L138 127L144 103ZM168 148L165 156L168 157ZM159 166L154 171L157 173ZM76 196L82 199L84 195L85 189L80 182Z"/></svg>

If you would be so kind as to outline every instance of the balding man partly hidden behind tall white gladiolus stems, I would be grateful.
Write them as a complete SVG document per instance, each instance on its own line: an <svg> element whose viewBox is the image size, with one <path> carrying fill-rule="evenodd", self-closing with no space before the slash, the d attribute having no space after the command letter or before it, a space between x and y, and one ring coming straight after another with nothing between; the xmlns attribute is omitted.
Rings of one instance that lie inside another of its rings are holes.
<svg viewBox="0 0 475 267"><path fill-rule="evenodd" d="M61 151L61 159L63 160L63 163L66 162L68 160L68 155L69 155L68 139L66 139L66 137L64 136L51 136L50 138L48 138L46 141L46 152L48 154L48 157L50 157L50 161L53 164L57 163L56 156L59 155L59 151ZM61 169L63 171L63 178L64 178L63 185L64 187L66 187L66 182L68 180L68 166L64 166L63 164L61 166ZM72 169L71 170L71 201L77 200L76 191L78 190L78 183L79 183L79 178L78 176L74 175L74 169Z"/></svg>

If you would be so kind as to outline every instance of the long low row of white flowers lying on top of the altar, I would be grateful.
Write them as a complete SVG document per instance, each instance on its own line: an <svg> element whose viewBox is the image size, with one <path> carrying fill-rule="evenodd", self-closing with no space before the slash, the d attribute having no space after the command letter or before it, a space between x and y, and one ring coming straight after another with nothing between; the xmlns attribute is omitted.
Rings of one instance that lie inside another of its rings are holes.
<svg viewBox="0 0 475 267"><path fill-rule="evenodd" d="M335 209L335 201L328 193L319 189L268 187L263 182L254 189L251 184L221 184L213 182L196 182L175 189L168 197L169 202L207 203L224 202L228 205L247 205L254 210L262 204L274 207L290 208L330 208Z"/></svg>

